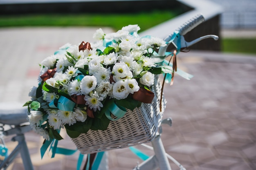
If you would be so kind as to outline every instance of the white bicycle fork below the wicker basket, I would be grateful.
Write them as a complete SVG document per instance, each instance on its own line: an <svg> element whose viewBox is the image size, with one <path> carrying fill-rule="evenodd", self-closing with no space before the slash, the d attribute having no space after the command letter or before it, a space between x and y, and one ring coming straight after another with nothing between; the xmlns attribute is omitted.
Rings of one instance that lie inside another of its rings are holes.
<svg viewBox="0 0 256 170"><path fill-rule="evenodd" d="M133 170L157 170L157 168L160 168L160 170L171 170L160 135L157 135L151 143L155 155L137 165Z"/></svg>

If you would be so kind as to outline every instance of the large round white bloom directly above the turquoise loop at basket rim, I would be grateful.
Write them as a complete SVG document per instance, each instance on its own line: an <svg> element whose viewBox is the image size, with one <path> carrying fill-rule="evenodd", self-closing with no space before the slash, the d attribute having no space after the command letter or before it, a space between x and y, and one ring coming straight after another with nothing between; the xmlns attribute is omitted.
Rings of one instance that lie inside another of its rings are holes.
<svg viewBox="0 0 256 170"><path fill-rule="evenodd" d="M113 85L113 96L116 99L125 99L129 95L130 92L126 89L125 84L123 80L119 80Z"/></svg>

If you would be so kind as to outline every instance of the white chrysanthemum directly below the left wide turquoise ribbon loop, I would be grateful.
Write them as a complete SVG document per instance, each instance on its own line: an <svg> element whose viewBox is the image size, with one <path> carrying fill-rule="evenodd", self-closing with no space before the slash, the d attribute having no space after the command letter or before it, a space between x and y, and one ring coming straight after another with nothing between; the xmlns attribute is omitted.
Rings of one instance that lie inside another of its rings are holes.
<svg viewBox="0 0 256 170"><path fill-rule="evenodd" d="M61 124L68 124L69 126L76 123L76 113L71 111L58 110L58 117L61 120Z"/></svg>

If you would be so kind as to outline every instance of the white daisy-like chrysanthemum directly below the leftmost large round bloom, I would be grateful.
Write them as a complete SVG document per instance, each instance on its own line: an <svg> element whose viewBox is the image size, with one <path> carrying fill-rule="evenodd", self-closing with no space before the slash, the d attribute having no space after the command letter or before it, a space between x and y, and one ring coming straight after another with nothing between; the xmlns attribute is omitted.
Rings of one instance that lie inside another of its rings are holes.
<svg viewBox="0 0 256 170"><path fill-rule="evenodd" d="M94 111L96 111L97 109L101 110L101 107L103 107L103 104L101 103L103 97L99 97L96 91L94 91L94 93L91 92L90 95L85 95L84 99L86 101L85 104Z"/></svg>

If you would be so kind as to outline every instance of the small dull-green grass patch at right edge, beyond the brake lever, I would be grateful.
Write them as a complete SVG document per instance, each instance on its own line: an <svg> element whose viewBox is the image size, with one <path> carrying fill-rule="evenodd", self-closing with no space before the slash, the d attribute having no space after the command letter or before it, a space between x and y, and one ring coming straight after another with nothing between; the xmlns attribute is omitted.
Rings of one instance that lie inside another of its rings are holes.
<svg viewBox="0 0 256 170"><path fill-rule="evenodd" d="M227 53L256 54L256 38L225 38L222 40L222 51Z"/></svg>

